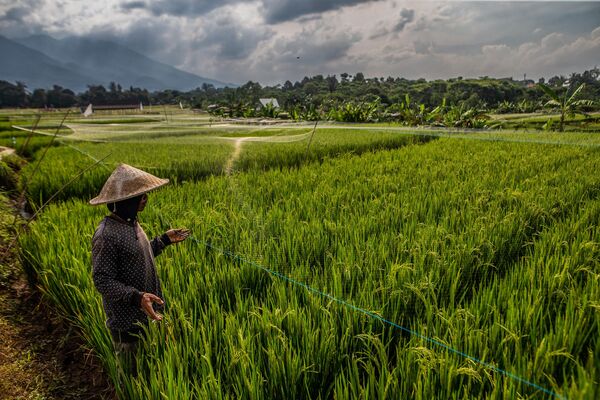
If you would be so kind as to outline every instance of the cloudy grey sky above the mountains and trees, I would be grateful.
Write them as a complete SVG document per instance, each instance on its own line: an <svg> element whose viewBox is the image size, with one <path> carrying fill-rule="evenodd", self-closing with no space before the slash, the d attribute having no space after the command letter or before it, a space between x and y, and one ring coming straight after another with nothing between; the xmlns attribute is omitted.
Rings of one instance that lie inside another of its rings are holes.
<svg viewBox="0 0 600 400"><path fill-rule="evenodd" d="M116 40L226 82L537 79L600 65L600 2L0 0L0 34Z"/></svg>

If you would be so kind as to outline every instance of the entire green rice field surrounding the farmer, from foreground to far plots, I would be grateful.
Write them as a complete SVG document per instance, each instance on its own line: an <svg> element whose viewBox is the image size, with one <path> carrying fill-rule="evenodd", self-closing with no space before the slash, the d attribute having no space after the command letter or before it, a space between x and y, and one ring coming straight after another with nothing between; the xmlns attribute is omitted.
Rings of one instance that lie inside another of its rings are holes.
<svg viewBox="0 0 600 400"><path fill-rule="evenodd" d="M600 397L599 136L77 124L33 201L110 156L20 244L122 398ZM167 308L136 378L91 279L86 200L118 162L174 181L148 236L193 233L157 258Z"/></svg>

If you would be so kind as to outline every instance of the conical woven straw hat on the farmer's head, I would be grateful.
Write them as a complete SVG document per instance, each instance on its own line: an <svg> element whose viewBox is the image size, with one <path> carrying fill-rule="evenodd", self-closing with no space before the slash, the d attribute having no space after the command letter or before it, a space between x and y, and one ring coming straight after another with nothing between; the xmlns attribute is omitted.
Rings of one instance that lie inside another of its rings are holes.
<svg viewBox="0 0 600 400"><path fill-rule="evenodd" d="M90 200L90 204L116 203L139 196L169 183L152 174L134 168L131 165L120 164L108 177L100 194Z"/></svg>

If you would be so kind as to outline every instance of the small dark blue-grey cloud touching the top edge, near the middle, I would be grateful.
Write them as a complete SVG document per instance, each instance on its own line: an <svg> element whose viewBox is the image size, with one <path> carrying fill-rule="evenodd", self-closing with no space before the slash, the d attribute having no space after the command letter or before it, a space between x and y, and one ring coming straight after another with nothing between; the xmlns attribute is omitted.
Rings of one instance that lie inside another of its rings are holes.
<svg viewBox="0 0 600 400"><path fill-rule="evenodd" d="M292 21L308 14L337 10L346 6L370 3L379 0L262 0L267 23L277 24Z"/></svg>

